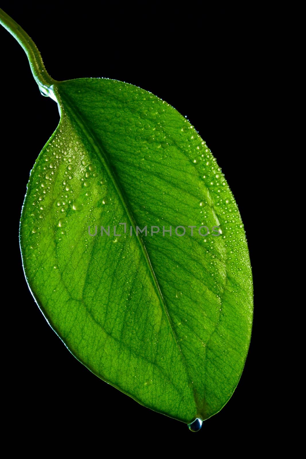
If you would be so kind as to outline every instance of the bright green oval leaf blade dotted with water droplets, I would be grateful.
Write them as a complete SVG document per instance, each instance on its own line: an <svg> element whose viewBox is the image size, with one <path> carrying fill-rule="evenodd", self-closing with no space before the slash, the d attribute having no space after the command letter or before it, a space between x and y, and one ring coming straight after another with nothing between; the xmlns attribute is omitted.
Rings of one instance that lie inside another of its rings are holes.
<svg viewBox="0 0 306 459"><path fill-rule="evenodd" d="M178 420L207 419L237 386L252 320L245 232L224 176L189 122L144 90L78 79L54 92L61 122L22 211L33 296L101 379Z"/></svg>

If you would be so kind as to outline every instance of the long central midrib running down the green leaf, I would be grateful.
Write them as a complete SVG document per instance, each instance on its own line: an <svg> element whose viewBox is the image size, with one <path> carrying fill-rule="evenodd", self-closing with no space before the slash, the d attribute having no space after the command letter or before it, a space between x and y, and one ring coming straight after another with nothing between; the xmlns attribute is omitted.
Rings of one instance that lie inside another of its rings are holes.
<svg viewBox="0 0 306 459"><path fill-rule="evenodd" d="M95 132L88 127L87 122L83 119L83 117L80 114L80 112L75 108L74 104L70 100L70 97L68 95L66 95L66 94L64 96L62 96L61 94L59 94L59 90L58 90L56 85L55 85L55 88L57 89L57 91L56 91L57 101L59 103L59 106L61 107L61 117L64 116L64 114L65 114L64 105L62 104L62 101L64 101L65 105L67 106L67 108L69 110L69 114L71 115L72 119L78 125L78 127L82 130L82 133L85 135L87 142L89 143L89 145L92 146L92 149L97 153L100 161L102 162L103 166L105 167L106 172L109 175L109 177L110 177L110 179L111 179L111 181L112 181L112 183L113 183L113 185L115 187L115 190L117 191L117 194L118 194L118 196L119 196L119 198L120 198L120 200L122 202L122 205L123 205L124 209L126 210L128 218L129 218L129 220L130 220L130 222L131 222L131 224L133 226L134 232L135 232L135 234L137 234L136 233L136 223L134 221L132 213L130 212L128 204L127 204L126 200L124 199L124 196L122 195L122 190L121 190L121 188L120 188L120 186L119 186L119 184L117 182L117 177L115 176L114 170L111 167L111 165L110 165L110 163L108 161L108 158L106 157L104 146L101 145L101 141L100 141L100 139L97 138ZM80 125L80 122L81 122L82 126ZM95 140L95 142L93 142L92 140ZM95 143L100 147L99 149L97 149L95 147ZM146 263L148 265L148 268L150 270L150 273L151 273L151 276L152 276L152 279L153 279L153 283L154 283L154 286L156 288L157 296L159 297L161 305L164 308L164 311L165 311L165 313L167 315L174 341L175 341L176 345L178 346L178 350L179 350L179 353L181 355L181 358L182 358L182 361L183 361L183 364L184 364L184 368L185 368L186 375L187 375L187 378L188 378L188 383L189 383L188 387L189 387L190 392L192 393L192 396L193 396L193 399L194 399L194 402L195 402L195 406L197 406L198 403L197 403L197 400L196 400L196 394L195 394L195 391L192 390L193 384L192 384L191 378L189 376L189 371L188 371L188 367L187 367L187 364L186 364L186 360L185 360L184 354L182 352L182 349L181 349L181 347L179 345L178 337L177 337L177 335L175 333L175 330L174 330L174 327L173 327L173 324L172 324L172 319L171 319L170 314L168 312L166 302L165 302L165 300L164 300L164 298L162 296L161 288L159 286L158 280L156 279L156 275L155 275L154 269L152 267L152 264L150 262L150 258L149 258L148 252L147 252L147 250L145 248L145 245L144 245L141 237L139 235L136 235L136 238L137 238L137 240L139 242L139 245L140 245L140 248L141 248L141 252L143 253L143 255L145 257L145 261L146 261Z"/></svg>

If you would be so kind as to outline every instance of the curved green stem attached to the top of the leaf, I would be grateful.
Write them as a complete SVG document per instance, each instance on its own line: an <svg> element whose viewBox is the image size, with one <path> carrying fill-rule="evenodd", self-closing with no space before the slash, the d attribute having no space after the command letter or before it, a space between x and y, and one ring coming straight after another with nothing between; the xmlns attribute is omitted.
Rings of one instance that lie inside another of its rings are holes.
<svg viewBox="0 0 306 459"><path fill-rule="evenodd" d="M14 21L10 16L6 14L0 8L0 23L4 28L18 41L19 45L22 46L30 63L31 71L36 83L39 85L39 89L43 95L49 96L53 94L50 89L51 86L57 83L56 80L50 77L47 73L44 62L41 58L40 52L28 36L28 34Z"/></svg>

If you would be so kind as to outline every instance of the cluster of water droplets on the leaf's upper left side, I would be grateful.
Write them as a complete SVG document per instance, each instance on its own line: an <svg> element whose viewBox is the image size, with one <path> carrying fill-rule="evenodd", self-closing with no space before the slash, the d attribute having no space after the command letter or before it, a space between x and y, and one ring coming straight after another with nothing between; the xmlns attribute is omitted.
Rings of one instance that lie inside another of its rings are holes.
<svg viewBox="0 0 306 459"><path fill-rule="evenodd" d="M89 157L77 133L67 127L65 121L41 152L32 177L36 186L29 195L33 209L32 234L39 235L44 222L49 224L52 221L56 224L59 241L67 233L68 220L74 213L86 212L86 216L90 215L93 210L92 193L97 193L97 187L93 185L99 185L102 196L106 193L101 170ZM33 248L36 245L33 241Z"/></svg>

